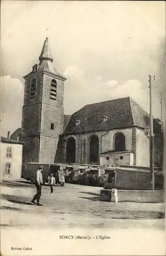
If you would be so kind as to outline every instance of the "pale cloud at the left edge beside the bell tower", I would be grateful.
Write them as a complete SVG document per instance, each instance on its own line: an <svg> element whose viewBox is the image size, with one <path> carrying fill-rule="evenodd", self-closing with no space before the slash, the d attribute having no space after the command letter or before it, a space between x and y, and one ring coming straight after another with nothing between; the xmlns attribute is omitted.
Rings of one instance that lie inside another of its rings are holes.
<svg viewBox="0 0 166 256"><path fill-rule="evenodd" d="M21 126L24 86L10 75L1 77L1 135Z"/></svg>

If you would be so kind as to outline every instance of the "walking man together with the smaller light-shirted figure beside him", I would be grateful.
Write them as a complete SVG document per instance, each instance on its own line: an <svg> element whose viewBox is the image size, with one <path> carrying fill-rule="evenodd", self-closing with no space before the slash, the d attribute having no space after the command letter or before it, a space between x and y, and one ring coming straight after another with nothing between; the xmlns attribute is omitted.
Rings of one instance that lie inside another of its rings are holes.
<svg viewBox="0 0 166 256"><path fill-rule="evenodd" d="M42 204L40 204L41 185L43 184L42 173L41 173L42 170L43 170L43 165L40 165L39 169L36 172L36 177L35 177L35 182L34 182L36 189L37 189L37 193L35 194L35 196L33 197L32 201L31 201L33 204L38 205L38 206L42 206ZM49 185L51 188L51 193L53 193L53 187L55 184L56 184L55 178L54 178L53 174L51 174L51 176L49 178Z"/></svg>

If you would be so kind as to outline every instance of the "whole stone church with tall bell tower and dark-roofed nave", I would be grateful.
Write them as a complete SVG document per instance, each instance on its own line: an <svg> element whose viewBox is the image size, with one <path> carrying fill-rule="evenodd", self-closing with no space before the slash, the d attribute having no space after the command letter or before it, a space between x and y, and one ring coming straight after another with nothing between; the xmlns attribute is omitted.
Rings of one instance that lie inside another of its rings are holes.
<svg viewBox="0 0 166 256"><path fill-rule="evenodd" d="M22 124L11 139L25 142L22 163L61 162L105 166L150 165L149 114L130 97L85 105L65 115L66 78L53 66L46 37L39 64L23 77ZM154 119L155 165L162 162L161 124Z"/></svg>

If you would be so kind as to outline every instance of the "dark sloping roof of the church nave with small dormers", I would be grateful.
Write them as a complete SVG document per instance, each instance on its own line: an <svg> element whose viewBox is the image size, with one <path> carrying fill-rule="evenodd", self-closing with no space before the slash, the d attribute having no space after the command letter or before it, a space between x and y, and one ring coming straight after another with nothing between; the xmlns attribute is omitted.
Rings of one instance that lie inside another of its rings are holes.
<svg viewBox="0 0 166 256"><path fill-rule="evenodd" d="M106 121L103 118L107 117ZM76 125L76 121L79 124ZM149 125L149 115L130 97L85 105L74 113L63 134L124 129ZM159 124L154 121L154 129Z"/></svg>

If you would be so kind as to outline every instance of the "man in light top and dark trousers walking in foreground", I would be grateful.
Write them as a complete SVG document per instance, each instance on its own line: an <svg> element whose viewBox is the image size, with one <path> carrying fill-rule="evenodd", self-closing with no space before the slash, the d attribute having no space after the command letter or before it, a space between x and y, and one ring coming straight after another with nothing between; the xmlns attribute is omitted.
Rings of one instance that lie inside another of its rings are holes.
<svg viewBox="0 0 166 256"><path fill-rule="evenodd" d="M42 206L42 204L40 204L41 184L43 184L43 179L42 179L42 174L41 174L42 170L43 170L43 166L40 165L39 169L36 172L36 179L35 179L35 186L37 188L37 193L31 201L33 204L36 204L35 200L37 200L38 206Z"/></svg>

